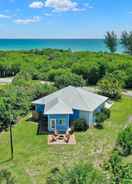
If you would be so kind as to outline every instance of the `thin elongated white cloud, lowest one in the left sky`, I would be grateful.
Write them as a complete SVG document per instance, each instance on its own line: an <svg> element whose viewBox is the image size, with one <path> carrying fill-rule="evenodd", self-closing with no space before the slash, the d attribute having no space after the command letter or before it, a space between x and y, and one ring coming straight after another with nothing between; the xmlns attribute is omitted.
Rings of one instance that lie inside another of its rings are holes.
<svg viewBox="0 0 132 184"><path fill-rule="evenodd" d="M30 19L16 19L15 20L15 23L16 24L33 24L33 23L36 23L36 22L39 22L40 21L40 17L39 16L34 16Z"/></svg>

